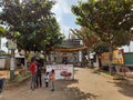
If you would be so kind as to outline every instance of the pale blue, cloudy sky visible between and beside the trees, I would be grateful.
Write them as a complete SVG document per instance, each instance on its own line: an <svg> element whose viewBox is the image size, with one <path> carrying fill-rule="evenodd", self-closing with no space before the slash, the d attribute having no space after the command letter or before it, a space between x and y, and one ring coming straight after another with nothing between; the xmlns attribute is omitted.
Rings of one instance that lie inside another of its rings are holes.
<svg viewBox="0 0 133 100"><path fill-rule="evenodd" d="M60 24L61 32L64 33L64 36L68 38L70 29L80 29L80 26L75 24L75 16L71 12L71 6L78 4L79 0L54 0L54 1L57 1L57 3L52 8L52 12L55 13L55 18ZM4 47L6 41L7 41L6 39L2 39L2 50L7 51L7 48ZM122 47L122 49L124 49L125 52L129 51L133 52L133 42L131 42L130 47L125 46Z"/></svg>

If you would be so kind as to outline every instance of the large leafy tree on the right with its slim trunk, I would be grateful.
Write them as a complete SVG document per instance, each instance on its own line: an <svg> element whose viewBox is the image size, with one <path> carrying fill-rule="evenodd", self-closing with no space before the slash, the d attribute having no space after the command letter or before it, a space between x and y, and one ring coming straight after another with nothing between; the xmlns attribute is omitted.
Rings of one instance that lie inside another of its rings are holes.
<svg viewBox="0 0 133 100"><path fill-rule="evenodd" d="M130 43L133 31L133 0L88 0L72 6L76 23L94 31L106 43L110 51Z"/></svg>

